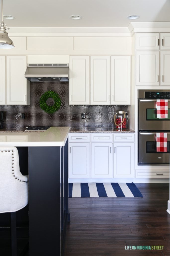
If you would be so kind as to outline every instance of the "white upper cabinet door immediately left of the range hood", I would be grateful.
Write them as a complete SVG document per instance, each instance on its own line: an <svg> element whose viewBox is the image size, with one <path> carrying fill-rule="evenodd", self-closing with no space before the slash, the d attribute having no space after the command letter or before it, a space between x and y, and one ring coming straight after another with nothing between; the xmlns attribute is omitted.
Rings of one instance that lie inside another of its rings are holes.
<svg viewBox="0 0 170 256"><path fill-rule="evenodd" d="M29 104L27 79L24 77L26 63L26 56L6 57L7 105Z"/></svg>

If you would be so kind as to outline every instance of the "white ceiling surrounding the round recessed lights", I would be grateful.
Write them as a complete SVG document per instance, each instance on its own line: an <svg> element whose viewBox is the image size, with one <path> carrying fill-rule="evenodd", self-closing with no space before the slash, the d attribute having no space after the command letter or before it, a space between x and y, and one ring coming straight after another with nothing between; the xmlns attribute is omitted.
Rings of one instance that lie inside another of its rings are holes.
<svg viewBox="0 0 170 256"><path fill-rule="evenodd" d="M135 22L169 22L170 0L4 0L9 27L128 27ZM70 15L81 15L71 20Z"/></svg>

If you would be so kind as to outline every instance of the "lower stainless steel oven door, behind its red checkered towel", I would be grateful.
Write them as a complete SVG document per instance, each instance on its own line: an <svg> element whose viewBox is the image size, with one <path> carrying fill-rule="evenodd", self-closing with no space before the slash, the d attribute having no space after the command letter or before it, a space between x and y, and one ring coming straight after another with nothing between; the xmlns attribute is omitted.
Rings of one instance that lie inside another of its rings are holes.
<svg viewBox="0 0 170 256"><path fill-rule="evenodd" d="M169 165L169 140L167 133L167 152L156 152L156 132L139 132L139 165Z"/></svg>

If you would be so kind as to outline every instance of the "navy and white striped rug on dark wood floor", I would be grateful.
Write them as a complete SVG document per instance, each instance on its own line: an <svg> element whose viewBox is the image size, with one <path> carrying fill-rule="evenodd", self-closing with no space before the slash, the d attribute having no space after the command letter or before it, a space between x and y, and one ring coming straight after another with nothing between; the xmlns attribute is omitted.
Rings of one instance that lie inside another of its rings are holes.
<svg viewBox="0 0 170 256"><path fill-rule="evenodd" d="M143 197L132 183L69 183L69 197Z"/></svg>

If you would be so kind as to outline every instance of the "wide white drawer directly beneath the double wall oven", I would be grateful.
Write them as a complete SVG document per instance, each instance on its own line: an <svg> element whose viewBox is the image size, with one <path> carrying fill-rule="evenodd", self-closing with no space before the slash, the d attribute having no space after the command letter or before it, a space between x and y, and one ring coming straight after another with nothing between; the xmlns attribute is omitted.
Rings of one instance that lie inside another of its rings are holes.
<svg viewBox="0 0 170 256"><path fill-rule="evenodd" d="M154 179L166 179L169 178L168 170L136 170L136 178L154 178Z"/></svg>

